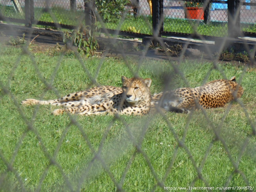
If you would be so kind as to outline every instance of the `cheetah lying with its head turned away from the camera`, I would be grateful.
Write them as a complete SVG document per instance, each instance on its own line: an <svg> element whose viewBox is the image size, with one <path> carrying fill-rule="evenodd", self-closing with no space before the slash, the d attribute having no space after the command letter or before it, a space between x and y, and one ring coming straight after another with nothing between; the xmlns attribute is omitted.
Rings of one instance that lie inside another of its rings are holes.
<svg viewBox="0 0 256 192"><path fill-rule="evenodd" d="M196 88L179 88L153 95L154 105L171 112L189 113L192 109L223 107L241 98L244 89L233 76L230 80L218 79Z"/></svg>

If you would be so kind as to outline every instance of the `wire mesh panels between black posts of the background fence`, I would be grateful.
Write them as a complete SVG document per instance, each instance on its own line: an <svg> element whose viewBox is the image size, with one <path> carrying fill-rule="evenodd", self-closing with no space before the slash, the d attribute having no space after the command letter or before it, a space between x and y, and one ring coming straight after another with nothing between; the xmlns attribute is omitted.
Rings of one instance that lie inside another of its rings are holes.
<svg viewBox="0 0 256 192"><path fill-rule="evenodd" d="M160 7L154 2L158 2ZM165 32L165 34L194 34L196 32L200 35L225 37L228 31L232 31L228 24L229 20L232 22L234 16L232 12L239 12L240 14L237 14L235 19L236 30L255 34L256 4L253 0L237 1L234 5L230 3L230 18L227 14L227 1L158 0L154 2L152 4L151 0L96 0L94 14L97 12L100 15L104 25L102 26L102 22L97 20L95 24L98 28L118 29L137 35L152 35L152 27L154 28L152 16L157 16L153 14L156 11L163 18L163 29L160 32ZM47 23L49 25L54 20L57 24L78 26L80 20L84 20L83 12L86 1L83 0L31 0L30 4L33 6L33 14L31 13L33 16L30 19L40 21L44 25ZM25 0L1 1L1 14L6 18L26 19L26 11L28 10L25 8ZM49 11L52 12L51 15ZM120 20L121 18L124 20Z"/></svg>

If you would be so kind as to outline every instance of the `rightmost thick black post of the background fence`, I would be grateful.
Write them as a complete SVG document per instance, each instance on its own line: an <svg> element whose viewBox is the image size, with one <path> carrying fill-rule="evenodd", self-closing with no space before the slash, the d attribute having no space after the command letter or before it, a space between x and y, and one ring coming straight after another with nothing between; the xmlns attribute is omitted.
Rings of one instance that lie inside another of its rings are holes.
<svg viewBox="0 0 256 192"><path fill-rule="evenodd" d="M228 34L231 38L237 38L240 31L240 0L227 0L227 25Z"/></svg>

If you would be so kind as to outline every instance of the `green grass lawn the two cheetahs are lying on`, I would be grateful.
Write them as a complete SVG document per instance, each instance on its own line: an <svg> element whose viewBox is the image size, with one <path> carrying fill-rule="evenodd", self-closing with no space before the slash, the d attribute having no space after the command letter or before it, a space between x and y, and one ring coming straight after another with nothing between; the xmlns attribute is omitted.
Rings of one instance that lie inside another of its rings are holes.
<svg viewBox="0 0 256 192"><path fill-rule="evenodd" d="M227 78L236 75L241 81L245 89L241 102L245 108L233 103L206 110L207 116L200 111L120 119L52 116L55 106L19 103L26 98L57 98L56 92L48 90L43 82L52 84L59 95L91 87L89 75L79 60L72 54L29 56L11 46L1 46L0 54L1 191L18 191L22 185L27 191L68 191L70 186L76 191L116 191L115 183L125 191L151 191L155 185L155 191L163 191L163 186L207 187L197 179L195 166L200 166L203 179L211 187L224 186L229 177L226 187L256 186L256 138L250 124L252 121L255 127L255 68L219 65ZM153 80L153 93L163 89L163 74L173 76L173 89L186 86L180 75L174 75L173 66L184 74L191 87L223 78L212 63L177 64L150 59L140 63L139 58L128 57L127 67L123 59L114 57L82 57L82 61L91 76L103 85L121 86L122 75L131 77L139 71L142 78ZM214 141L214 130L220 133L225 145ZM246 139L248 144L241 153ZM178 140L184 141L185 147L178 147ZM101 155L93 160L94 151L98 150ZM239 162L236 173L230 158ZM155 177L158 181L165 178L162 187Z"/></svg>

